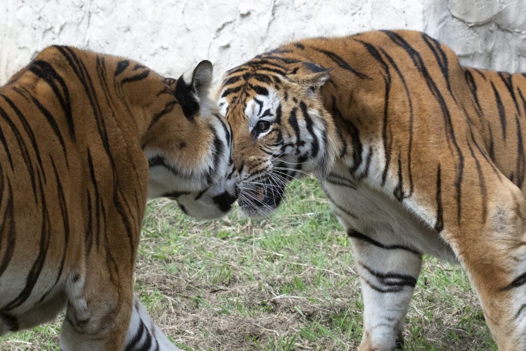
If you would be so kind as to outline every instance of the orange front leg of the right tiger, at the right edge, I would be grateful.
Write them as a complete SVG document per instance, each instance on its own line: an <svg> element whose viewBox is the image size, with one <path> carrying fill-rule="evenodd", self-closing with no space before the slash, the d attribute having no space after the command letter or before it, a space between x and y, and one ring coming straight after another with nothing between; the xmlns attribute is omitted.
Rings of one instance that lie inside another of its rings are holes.
<svg viewBox="0 0 526 351"><path fill-rule="evenodd" d="M526 200L507 179L491 193L482 225L444 229L442 236L466 268L499 349L525 350Z"/></svg>

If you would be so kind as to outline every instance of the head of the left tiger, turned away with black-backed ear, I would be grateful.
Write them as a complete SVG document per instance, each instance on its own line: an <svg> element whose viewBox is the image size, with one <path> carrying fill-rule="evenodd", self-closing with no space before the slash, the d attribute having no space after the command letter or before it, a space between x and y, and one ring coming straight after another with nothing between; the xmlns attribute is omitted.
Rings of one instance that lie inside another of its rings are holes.
<svg viewBox="0 0 526 351"><path fill-rule="evenodd" d="M165 78L142 140L148 197L174 199L187 215L201 219L225 215L237 199L230 125L208 97L212 70L203 61L177 80Z"/></svg>

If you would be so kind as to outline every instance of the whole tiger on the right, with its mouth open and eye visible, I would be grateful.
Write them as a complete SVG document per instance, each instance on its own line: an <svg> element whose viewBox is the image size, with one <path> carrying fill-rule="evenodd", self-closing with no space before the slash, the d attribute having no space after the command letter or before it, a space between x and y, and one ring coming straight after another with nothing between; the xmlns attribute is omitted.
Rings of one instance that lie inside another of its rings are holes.
<svg viewBox="0 0 526 351"><path fill-rule="evenodd" d="M350 237L360 350L402 343L422 254L466 268L500 349L526 349L526 76L462 67L426 34L289 43L228 71L239 204L313 172Z"/></svg>

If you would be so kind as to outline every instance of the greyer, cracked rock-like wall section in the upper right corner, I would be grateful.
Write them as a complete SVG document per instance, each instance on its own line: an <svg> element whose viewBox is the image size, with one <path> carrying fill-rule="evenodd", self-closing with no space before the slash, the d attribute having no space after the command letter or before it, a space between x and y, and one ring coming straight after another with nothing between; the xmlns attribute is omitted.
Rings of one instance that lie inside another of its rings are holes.
<svg viewBox="0 0 526 351"><path fill-rule="evenodd" d="M423 30L465 65L526 72L525 11L526 0L429 0Z"/></svg>

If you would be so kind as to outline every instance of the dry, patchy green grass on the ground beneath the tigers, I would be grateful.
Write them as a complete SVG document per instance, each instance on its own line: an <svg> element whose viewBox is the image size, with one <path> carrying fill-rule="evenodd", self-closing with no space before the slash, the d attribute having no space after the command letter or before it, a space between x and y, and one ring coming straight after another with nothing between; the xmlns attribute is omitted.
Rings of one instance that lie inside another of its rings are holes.
<svg viewBox="0 0 526 351"><path fill-rule="evenodd" d="M202 223L148 206L136 293L186 350L348 350L361 292L348 239L313 179L292 183L268 219ZM2 350L57 348L59 322L0 338ZM424 257L404 332L408 350L497 349L467 275Z"/></svg>

